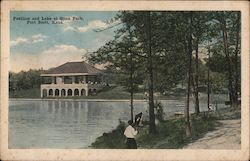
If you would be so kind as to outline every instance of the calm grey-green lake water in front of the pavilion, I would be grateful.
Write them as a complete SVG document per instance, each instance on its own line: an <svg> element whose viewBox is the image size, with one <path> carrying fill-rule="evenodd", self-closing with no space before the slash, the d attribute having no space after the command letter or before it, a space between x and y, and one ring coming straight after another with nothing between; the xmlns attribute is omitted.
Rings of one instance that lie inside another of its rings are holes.
<svg viewBox="0 0 250 161"><path fill-rule="evenodd" d="M184 111L184 100L161 100L166 117ZM134 113L147 115L148 103L136 101ZM218 104L218 107L224 107ZM200 103L207 110L206 102ZM190 111L194 111L191 104ZM130 117L129 101L11 100L9 148L88 148L104 132Z"/></svg>

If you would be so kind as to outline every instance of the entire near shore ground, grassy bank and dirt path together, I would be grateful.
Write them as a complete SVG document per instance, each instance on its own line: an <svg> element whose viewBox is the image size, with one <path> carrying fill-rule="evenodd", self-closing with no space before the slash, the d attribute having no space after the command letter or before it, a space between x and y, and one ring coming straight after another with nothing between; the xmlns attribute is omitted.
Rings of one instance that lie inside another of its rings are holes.
<svg viewBox="0 0 250 161"><path fill-rule="evenodd" d="M145 125L136 137L138 149L237 150L240 148L241 108L219 109L206 116L200 113L199 116L193 115L190 118L193 129L190 138L185 135L185 118L171 117L156 125L160 131L158 135L149 135L149 126ZM104 132L97 137L90 148L126 149L123 135L126 126L125 122L120 122L112 131Z"/></svg>

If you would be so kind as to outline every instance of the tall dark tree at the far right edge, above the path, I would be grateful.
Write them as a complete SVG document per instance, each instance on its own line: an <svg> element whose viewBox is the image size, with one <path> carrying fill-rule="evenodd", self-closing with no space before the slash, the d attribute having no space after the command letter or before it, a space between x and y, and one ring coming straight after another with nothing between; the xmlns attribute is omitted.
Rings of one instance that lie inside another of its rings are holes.
<svg viewBox="0 0 250 161"><path fill-rule="evenodd" d="M214 15L218 25L218 36L222 44L217 47L217 54L223 53L227 62L225 72L228 77L229 100L232 107L238 106L239 55L240 55L240 12L219 12ZM221 51L218 49L221 49Z"/></svg>

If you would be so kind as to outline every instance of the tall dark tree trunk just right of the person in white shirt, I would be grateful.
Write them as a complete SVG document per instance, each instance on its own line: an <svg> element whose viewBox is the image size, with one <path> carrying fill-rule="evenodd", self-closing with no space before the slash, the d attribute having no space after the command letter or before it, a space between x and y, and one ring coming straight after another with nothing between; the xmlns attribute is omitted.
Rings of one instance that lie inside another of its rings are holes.
<svg viewBox="0 0 250 161"><path fill-rule="evenodd" d="M153 54L151 47L151 18L150 11L146 12L146 34L148 45L148 90L149 90L149 133L155 134L155 113L154 113L154 75L153 75Z"/></svg>

